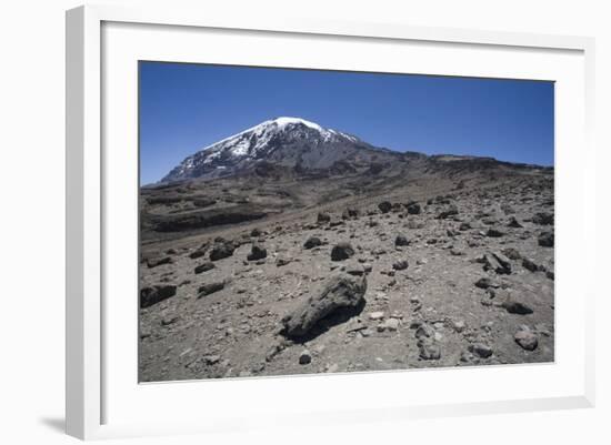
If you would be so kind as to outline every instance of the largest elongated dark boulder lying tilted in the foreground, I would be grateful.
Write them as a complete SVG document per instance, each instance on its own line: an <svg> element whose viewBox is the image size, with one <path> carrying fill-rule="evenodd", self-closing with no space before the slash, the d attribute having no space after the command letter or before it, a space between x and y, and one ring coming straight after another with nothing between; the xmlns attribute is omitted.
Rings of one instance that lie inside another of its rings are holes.
<svg viewBox="0 0 611 445"><path fill-rule="evenodd" d="M289 337L304 336L322 318L339 311L350 312L362 307L365 291L364 276L332 276L318 293L310 295L282 318L282 333Z"/></svg>

